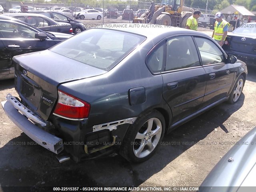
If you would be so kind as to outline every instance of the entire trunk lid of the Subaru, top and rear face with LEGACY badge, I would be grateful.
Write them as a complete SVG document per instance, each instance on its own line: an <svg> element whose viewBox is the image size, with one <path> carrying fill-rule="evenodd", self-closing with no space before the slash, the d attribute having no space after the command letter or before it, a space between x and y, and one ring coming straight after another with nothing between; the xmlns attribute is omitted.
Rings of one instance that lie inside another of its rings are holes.
<svg viewBox="0 0 256 192"><path fill-rule="evenodd" d="M48 120L58 102L58 86L106 71L61 56L49 50L15 56L15 89L22 104Z"/></svg>

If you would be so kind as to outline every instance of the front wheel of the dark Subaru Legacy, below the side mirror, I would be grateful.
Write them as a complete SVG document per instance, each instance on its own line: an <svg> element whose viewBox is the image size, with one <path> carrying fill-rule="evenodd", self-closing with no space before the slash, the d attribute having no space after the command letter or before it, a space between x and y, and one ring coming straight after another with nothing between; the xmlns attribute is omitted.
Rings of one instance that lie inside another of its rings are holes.
<svg viewBox="0 0 256 192"><path fill-rule="evenodd" d="M236 80L236 83L232 89L232 92L230 93L230 96L228 98L228 102L230 104L234 104L238 102L240 95L242 94L243 88L244 88L244 76L240 75L238 79Z"/></svg>

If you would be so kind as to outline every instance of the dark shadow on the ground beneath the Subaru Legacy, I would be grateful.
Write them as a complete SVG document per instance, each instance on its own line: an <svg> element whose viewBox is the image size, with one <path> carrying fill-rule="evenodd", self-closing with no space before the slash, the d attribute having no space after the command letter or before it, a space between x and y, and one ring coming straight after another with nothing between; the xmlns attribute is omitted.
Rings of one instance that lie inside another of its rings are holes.
<svg viewBox="0 0 256 192"><path fill-rule="evenodd" d="M164 142L196 143L218 127L228 132L223 122L243 103L244 94L234 105L216 106L178 127ZM32 143L22 133L0 148L0 186L139 186L193 146L160 145L152 158L140 164L126 162L119 155L60 164L52 152Z"/></svg>

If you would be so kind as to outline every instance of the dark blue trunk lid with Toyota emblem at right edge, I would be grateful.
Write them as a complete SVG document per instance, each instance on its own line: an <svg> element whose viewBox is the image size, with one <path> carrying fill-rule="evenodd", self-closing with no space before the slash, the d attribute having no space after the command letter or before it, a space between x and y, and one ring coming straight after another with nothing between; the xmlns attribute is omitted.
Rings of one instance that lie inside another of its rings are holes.
<svg viewBox="0 0 256 192"><path fill-rule="evenodd" d="M226 40L229 44L225 46L226 50L249 54L256 53L256 37L242 34L228 34Z"/></svg>

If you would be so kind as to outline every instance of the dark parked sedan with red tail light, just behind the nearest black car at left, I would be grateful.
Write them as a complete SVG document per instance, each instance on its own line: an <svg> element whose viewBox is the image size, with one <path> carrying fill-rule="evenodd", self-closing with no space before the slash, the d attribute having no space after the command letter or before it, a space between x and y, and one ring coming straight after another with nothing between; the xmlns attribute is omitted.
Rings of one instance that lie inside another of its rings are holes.
<svg viewBox="0 0 256 192"><path fill-rule="evenodd" d="M56 22L42 14L34 13L5 13L5 16L10 16L22 20L32 26L39 28L43 31L53 31L66 34L72 34L73 29L69 23Z"/></svg>

